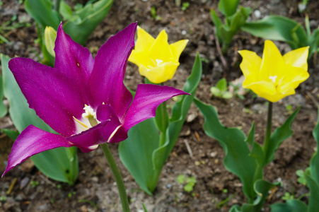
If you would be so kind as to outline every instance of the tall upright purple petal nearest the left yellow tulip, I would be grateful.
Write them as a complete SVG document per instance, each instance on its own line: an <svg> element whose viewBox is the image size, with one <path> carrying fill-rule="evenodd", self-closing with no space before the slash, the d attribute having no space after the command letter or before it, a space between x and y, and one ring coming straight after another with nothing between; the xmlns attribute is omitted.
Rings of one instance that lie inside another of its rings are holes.
<svg viewBox="0 0 319 212"><path fill-rule="evenodd" d="M123 117L132 102L132 94L124 86L127 59L134 47L137 23L110 37L98 50L90 78L90 90L95 107L111 105L118 117Z"/></svg>

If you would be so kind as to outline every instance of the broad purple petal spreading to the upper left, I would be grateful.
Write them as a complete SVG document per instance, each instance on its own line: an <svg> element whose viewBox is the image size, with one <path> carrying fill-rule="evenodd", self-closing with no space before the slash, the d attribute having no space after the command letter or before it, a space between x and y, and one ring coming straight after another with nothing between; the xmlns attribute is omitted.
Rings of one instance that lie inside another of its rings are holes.
<svg viewBox="0 0 319 212"><path fill-rule="evenodd" d="M81 118L85 104L74 80L32 59L14 58L8 67L29 107L62 136L74 134L73 116Z"/></svg>

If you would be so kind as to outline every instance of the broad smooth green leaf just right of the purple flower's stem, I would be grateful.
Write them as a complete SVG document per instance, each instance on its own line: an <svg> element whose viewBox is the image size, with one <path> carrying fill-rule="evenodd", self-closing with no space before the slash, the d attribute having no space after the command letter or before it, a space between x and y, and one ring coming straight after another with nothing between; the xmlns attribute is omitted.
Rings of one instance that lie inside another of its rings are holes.
<svg viewBox="0 0 319 212"><path fill-rule="evenodd" d="M129 130L128 138L119 146L120 159L127 170L134 177L139 187L147 194L152 194L158 176L153 168L152 154L158 148L159 136L154 119L133 126ZM156 179L157 177L157 179Z"/></svg>

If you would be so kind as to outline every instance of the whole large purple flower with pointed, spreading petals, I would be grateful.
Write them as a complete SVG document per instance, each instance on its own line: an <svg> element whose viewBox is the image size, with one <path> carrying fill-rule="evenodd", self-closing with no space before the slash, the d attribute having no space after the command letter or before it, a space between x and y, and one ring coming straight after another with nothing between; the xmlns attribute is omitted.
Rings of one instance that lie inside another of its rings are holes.
<svg viewBox="0 0 319 212"><path fill-rule="evenodd" d="M93 59L60 24L54 68L32 59L9 61L30 108L59 135L28 126L13 144L2 176L30 156L52 148L77 146L86 153L101 143L124 141L132 126L155 117L162 102L187 94L168 86L144 84L137 86L133 100L123 80L136 29L137 23L132 23L110 37Z"/></svg>

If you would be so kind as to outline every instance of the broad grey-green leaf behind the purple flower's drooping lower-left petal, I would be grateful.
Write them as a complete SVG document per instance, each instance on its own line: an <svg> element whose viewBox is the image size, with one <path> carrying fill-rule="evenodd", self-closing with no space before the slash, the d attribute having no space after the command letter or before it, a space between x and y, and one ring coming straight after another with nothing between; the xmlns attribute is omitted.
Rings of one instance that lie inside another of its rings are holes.
<svg viewBox="0 0 319 212"><path fill-rule="evenodd" d="M18 83L16 83L16 79L13 77L10 69L8 69L8 61L10 58L1 54L0 59L3 73L4 95L10 104L8 111L16 129L21 132L25 127L32 124L42 130L54 133L53 129L47 126L47 124L35 114L34 110L29 108L27 100L21 92ZM66 155L66 148L55 148L31 157L37 168L45 173L45 175L61 182L68 182L69 184L73 184L78 175L78 171L76 170L79 165L76 153L74 158L76 160L70 162Z"/></svg>

